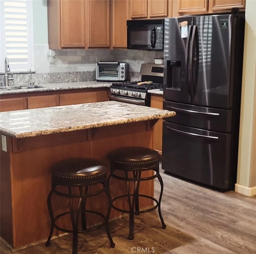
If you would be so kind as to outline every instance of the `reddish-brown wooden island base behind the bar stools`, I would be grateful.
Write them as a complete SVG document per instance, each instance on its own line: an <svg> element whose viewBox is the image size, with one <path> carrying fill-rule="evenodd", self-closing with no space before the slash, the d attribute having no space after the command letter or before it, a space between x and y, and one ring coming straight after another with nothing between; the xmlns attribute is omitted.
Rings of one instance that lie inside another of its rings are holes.
<svg viewBox="0 0 256 254"><path fill-rule="evenodd" d="M7 152L1 149L1 237L13 249L46 240L50 229L47 196L51 188L51 165L70 157L92 157L108 163L107 154L118 147L143 146L152 148L153 126L157 120L126 123L81 131L70 131L37 137L16 139L7 137ZM152 172L148 173L152 174ZM112 179L113 196L124 194L126 185ZM140 184L140 193L153 196L154 181ZM127 200L118 206L128 208ZM67 208L66 200L53 197L56 214ZM152 205L150 199L141 199L140 208ZM87 207L106 211L104 194L88 200ZM122 216L111 211L110 218ZM88 223L92 222L92 219ZM97 220L96 220L97 222ZM68 218L60 221L68 223ZM62 232L55 230L54 235Z"/></svg>

